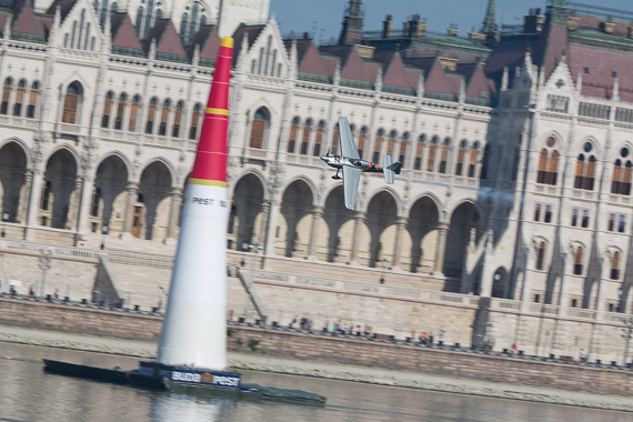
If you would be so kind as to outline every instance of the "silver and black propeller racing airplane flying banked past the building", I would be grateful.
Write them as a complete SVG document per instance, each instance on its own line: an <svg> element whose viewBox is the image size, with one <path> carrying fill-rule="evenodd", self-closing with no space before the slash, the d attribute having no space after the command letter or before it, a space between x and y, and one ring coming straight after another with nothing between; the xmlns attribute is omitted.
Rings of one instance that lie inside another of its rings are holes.
<svg viewBox="0 0 633 422"><path fill-rule="evenodd" d="M400 161L392 162L391 155L383 154L382 161L384 165L362 160L354 142L352 129L346 117L339 118L339 135L341 139L341 155L331 154L330 151L323 157L328 165L336 169L336 174L332 179L341 179L339 171L343 170L343 192L345 195L345 207L354 210L356 204L356 194L359 192L359 183L361 173L384 173L384 181L393 184L394 174L400 174L402 163Z"/></svg>

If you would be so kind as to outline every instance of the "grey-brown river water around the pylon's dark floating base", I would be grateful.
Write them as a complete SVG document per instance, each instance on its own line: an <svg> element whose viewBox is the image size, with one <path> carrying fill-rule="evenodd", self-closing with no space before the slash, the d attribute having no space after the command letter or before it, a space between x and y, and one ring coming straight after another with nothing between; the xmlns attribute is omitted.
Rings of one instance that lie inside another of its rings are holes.
<svg viewBox="0 0 633 422"><path fill-rule="evenodd" d="M324 408L197 399L46 373L42 358L102 368L138 360L0 343L0 421L574 421L630 422L631 413L435 393L243 371L244 382L307 390ZM10 356L8 360L4 356Z"/></svg>

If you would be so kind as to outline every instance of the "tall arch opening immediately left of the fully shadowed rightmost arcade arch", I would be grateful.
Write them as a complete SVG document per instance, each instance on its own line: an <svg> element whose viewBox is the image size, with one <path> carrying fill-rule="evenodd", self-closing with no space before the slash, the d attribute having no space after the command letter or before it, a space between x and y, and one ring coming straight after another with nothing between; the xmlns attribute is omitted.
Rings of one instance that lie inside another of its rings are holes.
<svg viewBox="0 0 633 422"><path fill-rule="evenodd" d="M422 195L412 202L408 224L411 243L409 249L411 272L431 273L435 271L440 210L436 199L430 194Z"/></svg>

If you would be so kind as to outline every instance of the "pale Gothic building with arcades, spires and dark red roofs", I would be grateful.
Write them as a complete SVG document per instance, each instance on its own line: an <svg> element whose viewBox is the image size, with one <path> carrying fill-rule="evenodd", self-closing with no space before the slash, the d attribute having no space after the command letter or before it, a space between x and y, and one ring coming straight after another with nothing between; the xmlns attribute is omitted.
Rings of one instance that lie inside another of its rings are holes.
<svg viewBox="0 0 633 422"><path fill-rule="evenodd" d="M383 269L411 288L630 309L633 14L549 0L498 28L491 0L462 37L419 16L365 31L351 0L338 42L316 46L283 39L268 0L4 1L9 238L175 242L231 34L231 250L260 242L272 269ZM355 212L319 160L339 151L340 115L364 159L403 162L393 185L363 175Z"/></svg>

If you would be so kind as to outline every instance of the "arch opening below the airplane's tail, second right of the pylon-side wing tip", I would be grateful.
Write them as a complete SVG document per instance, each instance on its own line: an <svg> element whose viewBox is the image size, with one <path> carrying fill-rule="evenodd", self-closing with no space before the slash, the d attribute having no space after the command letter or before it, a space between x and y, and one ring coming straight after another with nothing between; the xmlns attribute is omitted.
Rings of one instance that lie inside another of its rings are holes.
<svg viewBox="0 0 633 422"><path fill-rule="evenodd" d="M365 247L364 262L368 267L375 268L376 264L386 260L393 264L393 251L395 248L396 218L399 211L398 197L391 190L382 189L369 201L366 211L366 227L369 229L369 241L360 241L356 248L359 252ZM359 254L359 259L362 257Z"/></svg>

